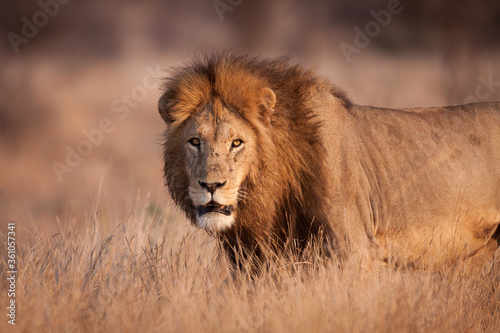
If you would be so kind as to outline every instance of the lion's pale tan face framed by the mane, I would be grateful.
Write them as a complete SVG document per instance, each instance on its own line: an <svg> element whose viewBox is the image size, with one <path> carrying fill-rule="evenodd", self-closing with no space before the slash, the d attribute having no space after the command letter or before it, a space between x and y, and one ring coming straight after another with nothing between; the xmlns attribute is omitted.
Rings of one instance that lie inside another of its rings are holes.
<svg viewBox="0 0 500 333"><path fill-rule="evenodd" d="M217 121L214 117L208 105L187 121L183 155L198 225L221 232L235 221L257 152L254 132L244 119L227 109Z"/></svg>

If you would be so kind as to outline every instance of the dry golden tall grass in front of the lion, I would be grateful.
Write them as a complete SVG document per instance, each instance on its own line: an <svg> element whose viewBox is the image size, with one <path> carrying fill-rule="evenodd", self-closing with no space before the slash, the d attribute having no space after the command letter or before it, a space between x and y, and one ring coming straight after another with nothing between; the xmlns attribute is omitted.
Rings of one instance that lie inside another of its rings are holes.
<svg viewBox="0 0 500 333"><path fill-rule="evenodd" d="M467 274L342 268L313 253L229 279L215 241L154 206L18 242L16 331L497 332L500 262ZM106 215L106 214L103 214ZM111 215L111 214L108 214ZM104 232L114 226L110 232ZM3 230L2 230L3 232ZM5 242L2 236L2 247ZM4 251L2 251L4 253ZM7 304L1 258L1 304ZM235 282L234 282L235 281ZM5 306L2 306L5 310ZM13 331L5 318L2 332Z"/></svg>

